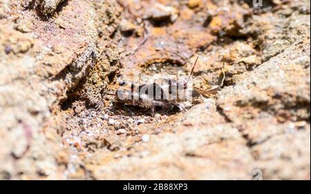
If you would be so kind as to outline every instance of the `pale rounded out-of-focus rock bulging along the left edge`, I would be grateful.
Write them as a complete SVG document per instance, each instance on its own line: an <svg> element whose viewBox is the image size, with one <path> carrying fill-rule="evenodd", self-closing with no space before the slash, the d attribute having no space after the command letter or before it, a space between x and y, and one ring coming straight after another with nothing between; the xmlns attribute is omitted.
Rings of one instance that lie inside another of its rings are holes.
<svg viewBox="0 0 311 194"><path fill-rule="evenodd" d="M100 18L86 1L49 18L35 1L0 5L0 179L64 179L68 153L53 114L94 66Z"/></svg>

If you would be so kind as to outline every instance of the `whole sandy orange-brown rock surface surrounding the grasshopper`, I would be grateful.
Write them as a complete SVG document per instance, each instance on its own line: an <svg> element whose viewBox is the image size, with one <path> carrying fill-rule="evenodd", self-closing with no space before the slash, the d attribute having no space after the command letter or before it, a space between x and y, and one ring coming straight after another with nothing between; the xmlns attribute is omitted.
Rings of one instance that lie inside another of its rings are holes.
<svg viewBox="0 0 311 194"><path fill-rule="evenodd" d="M109 95L197 56L187 110ZM0 0L0 69L0 180L310 180L310 1Z"/></svg>

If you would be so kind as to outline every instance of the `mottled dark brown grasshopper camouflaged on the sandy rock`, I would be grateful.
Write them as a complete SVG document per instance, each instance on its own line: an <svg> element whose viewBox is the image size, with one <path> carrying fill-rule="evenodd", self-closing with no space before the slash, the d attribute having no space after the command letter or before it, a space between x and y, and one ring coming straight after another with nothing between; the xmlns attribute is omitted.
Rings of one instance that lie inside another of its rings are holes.
<svg viewBox="0 0 311 194"><path fill-rule="evenodd" d="M198 57L196 58L187 79L156 79L150 84L134 84L118 80L120 86L127 86L128 89L117 89L115 94L107 94L114 95L115 101L118 104L129 104L131 106L151 109L152 115L154 115L155 108L157 107L164 110L172 110L175 107L178 107L180 110L185 110L185 106L182 103L187 101L186 93L189 88L189 79L194 73L197 61ZM210 90L194 88L190 91L191 94L207 97L210 94L216 93L223 86L225 80L225 72L222 71L221 74L218 86L211 88Z"/></svg>

